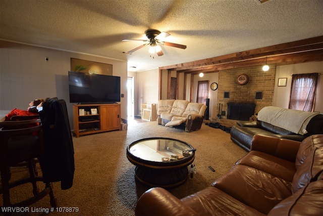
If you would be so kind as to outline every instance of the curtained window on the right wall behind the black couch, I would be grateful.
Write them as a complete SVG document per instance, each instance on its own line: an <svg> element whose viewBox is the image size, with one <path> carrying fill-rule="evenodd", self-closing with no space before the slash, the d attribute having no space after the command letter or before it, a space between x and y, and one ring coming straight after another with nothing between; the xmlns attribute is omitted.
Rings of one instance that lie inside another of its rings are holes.
<svg viewBox="0 0 323 216"><path fill-rule="evenodd" d="M293 74L289 109L313 112L318 73Z"/></svg>

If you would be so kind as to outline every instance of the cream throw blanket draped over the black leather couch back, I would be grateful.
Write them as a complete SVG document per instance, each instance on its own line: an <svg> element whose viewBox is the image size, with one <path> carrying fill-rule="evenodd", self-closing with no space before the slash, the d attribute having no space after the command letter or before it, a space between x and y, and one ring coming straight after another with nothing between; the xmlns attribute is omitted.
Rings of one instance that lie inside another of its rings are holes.
<svg viewBox="0 0 323 216"><path fill-rule="evenodd" d="M307 133L306 126L308 122L318 114L268 106L259 111L257 118L260 121L282 127L295 134L304 135Z"/></svg>

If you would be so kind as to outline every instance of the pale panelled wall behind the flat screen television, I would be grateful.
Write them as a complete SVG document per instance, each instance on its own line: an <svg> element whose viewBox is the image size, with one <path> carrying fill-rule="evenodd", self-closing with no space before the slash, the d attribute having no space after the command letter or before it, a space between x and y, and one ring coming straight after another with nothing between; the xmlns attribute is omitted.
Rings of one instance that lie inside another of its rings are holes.
<svg viewBox="0 0 323 216"><path fill-rule="evenodd" d="M84 51L86 52L86 51ZM45 57L49 58L45 62ZM71 58L113 65L113 75L121 77L121 117L127 117L127 62L66 51L34 47L0 40L0 110L26 110L36 98L58 97L69 103L68 71Z"/></svg>

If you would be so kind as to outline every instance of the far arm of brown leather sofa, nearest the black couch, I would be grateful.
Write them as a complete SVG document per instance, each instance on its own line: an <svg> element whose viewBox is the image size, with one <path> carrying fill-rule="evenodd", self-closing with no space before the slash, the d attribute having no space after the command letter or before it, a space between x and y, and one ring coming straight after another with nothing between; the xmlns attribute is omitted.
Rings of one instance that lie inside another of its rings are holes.
<svg viewBox="0 0 323 216"><path fill-rule="evenodd" d="M252 138L250 151L261 151L295 162L300 142L256 134Z"/></svg>

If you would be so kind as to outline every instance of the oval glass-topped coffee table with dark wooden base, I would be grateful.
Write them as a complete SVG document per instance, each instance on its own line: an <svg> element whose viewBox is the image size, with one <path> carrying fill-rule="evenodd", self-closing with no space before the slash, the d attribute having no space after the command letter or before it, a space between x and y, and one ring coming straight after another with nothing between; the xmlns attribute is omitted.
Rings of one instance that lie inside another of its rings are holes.
<svg viewBox="0 0 323 216"><path fill-rule="evenodd" d="M191 145L170 138L142 139L127 148L128 160L136 165L135 178L150 187L171 188L184 183L194 156Z"/></svg>

